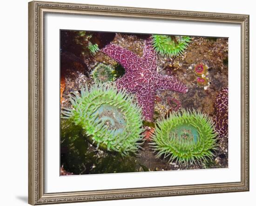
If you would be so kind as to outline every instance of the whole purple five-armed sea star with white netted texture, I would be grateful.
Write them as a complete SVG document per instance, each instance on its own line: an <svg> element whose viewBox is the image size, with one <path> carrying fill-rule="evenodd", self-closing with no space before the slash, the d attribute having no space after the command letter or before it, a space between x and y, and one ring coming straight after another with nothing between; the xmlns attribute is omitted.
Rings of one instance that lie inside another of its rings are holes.
<svg viewBox="0 0 256 206"><path fill-rule="evenodd" d="M187 87L174 76L162 75L156 71L156 54L151 45L150 38L145 40L142 57L111 43L101 49L101 52L124 67L125 74L116 80L116 86L136 94L143 116L147 121L153 120L156 91L188 92Z"/></svg>

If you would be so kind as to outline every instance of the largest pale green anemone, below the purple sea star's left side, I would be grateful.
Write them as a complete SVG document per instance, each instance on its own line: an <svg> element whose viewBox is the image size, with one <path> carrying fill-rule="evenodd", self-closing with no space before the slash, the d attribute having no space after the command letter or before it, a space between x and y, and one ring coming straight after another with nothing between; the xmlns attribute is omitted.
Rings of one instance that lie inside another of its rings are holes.
<svg viewBox="0 0 256 206"><path fill-rule="evenodd" d="M123 156L136 153L143 144L141 108L125 90L114 85L95 84L70 95L73 109L63 109L63 118L72 118L98 148Z"/></svg>

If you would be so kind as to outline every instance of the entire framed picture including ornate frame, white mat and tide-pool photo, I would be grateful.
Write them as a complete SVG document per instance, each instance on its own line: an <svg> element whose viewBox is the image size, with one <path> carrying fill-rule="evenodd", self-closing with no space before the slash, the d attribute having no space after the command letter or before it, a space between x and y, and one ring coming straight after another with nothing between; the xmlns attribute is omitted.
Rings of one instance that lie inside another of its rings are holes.
<svg viewBox="0 0 256 206"><path fill-rule="evenodd" d="M29 204L249 191L249 15L28 7Z"/></svg>

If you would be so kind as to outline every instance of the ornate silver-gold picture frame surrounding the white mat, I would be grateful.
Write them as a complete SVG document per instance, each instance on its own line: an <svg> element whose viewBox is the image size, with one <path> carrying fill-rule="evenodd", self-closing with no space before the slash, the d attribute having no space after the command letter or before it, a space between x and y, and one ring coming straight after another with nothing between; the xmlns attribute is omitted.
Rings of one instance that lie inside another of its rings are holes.
<svg viewBox="0 0 256 206"><path fill-rule="evenodd" d="M31 205L249 191L249 15L32 1L29 7L28 202ZM241 181L70 193L44 190L44 15L97 15L241 26Z"/></svg>

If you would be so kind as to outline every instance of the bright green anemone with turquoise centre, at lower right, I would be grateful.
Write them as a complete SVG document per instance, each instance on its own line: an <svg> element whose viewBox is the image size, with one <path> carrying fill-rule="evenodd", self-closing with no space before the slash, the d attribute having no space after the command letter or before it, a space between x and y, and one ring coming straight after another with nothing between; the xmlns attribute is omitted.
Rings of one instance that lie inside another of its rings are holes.
<svg viewBox="0 0 256 206"><path fill-rule="evenodd" d="M169 161L193 164L214 157L216 136L214 123L208 115L182 109L157 122L150 144L157 158L164 155Z"/></svg>

